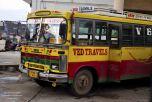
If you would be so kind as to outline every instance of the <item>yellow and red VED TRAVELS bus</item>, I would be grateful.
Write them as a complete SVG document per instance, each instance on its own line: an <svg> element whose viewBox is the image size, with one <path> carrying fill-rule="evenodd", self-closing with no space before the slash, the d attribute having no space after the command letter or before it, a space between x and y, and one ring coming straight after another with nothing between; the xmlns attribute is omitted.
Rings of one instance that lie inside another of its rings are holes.
<svg viewBox="0 0 152 102"><path fill-rule="evenodd" d="M152 21L145 16L32 12L19 69L40 86L68 84L76 96L97 83L149 77Z"/></svg>

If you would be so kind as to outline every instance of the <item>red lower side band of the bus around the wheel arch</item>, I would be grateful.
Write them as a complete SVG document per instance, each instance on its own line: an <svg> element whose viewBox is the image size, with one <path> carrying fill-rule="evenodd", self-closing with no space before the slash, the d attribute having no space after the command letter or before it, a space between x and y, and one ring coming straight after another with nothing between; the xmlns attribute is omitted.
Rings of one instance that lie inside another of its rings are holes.
<svg viewBox="0 0 152 102"><path fill-rule="evenodd" d="M70 62L68 63L69 79L73 79L76 73L84 67L92 67L96 70L99 79L110 79L120 81L124 76L148 76L152 73L152 64L145 64L135 60L115 61L91 61L91 62Z"/></svg>

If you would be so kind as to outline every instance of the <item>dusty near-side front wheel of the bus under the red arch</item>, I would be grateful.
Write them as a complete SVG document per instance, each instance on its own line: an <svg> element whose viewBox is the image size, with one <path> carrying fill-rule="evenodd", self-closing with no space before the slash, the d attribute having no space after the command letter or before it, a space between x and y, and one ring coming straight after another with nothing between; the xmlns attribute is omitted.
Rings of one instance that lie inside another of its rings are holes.
<svg viewBox="0 0 152 102"><path fill-rule="evenodd" d="M75 96L87 95L93 86L93 76L89 70L80 70L71 85L72 93Z"/></svg>

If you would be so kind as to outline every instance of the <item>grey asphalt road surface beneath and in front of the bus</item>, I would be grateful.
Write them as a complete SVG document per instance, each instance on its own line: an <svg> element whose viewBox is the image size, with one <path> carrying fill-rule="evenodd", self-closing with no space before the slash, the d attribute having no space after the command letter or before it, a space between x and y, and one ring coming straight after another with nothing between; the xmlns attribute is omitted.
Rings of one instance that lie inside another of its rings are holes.
<svg viewBox="0 0 152 102"><path fill-rule="evenodd" d="M74 97L68 87L42 88L19 72L0 72L0 102L149 102L149 81L99 84L88 97Z"/></svg>

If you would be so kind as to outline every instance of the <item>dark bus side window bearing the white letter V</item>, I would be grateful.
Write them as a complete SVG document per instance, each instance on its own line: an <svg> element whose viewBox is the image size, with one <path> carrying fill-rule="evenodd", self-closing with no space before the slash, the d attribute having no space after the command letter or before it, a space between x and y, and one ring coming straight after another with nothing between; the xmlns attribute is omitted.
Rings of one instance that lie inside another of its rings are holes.
<svg viewBox="0 0 152 102"><path fill-rule="evenodd" d="M144 45L144 27L141 25L134 26L134 45Z"/></svg>

